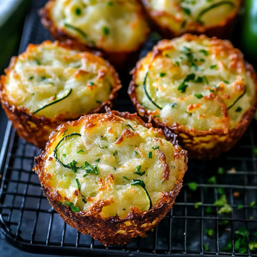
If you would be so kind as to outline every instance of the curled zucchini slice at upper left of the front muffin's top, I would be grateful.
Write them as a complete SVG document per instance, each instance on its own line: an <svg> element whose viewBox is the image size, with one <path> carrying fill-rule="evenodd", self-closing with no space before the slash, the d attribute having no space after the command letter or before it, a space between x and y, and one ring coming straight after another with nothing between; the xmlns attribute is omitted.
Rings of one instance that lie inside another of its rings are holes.
<svg viewBox="0 0 257 257"><path fill-rule="evenodd" d="M78 154L77 145L80 145L80 138L79 133L72 133L69 134L61 139L61 141L57 144L56 148L54 148L54 158L62 164L65 168L71 168L69 163L73 160L77 161L77 168L80 168L84 165L85 160L82 159L82 154ZM76 144L77 143L77 144ZM82 142L81 142L82 143ZM84 144L83 144L84 145ZM81 149L81 148L80 148ZM79 149L79 150L80 150Z"/></svg>

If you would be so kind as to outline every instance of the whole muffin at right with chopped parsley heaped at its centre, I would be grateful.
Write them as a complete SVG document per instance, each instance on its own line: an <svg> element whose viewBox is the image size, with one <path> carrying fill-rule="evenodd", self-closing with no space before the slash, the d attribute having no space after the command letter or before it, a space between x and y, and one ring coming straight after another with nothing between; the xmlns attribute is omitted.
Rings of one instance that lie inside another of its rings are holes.
<svg viewBox="0 0 257 257"><path fill-rule="evenodd" d="M186 34L162 40L132 71L138 113L178 135L189 157L230 150L256 111L256 74L226 40Z"/></svg>

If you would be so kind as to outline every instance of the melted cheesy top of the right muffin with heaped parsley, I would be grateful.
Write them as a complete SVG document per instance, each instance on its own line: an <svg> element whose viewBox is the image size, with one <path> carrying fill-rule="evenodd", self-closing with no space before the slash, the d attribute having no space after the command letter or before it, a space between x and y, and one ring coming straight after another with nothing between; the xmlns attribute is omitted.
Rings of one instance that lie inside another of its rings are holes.
<svg viewBox="0 0 257 257"><path fill-rule="evenodd" d="M256 94L239 50L189 34L160 41L137 64L135 83L139 102L160 122L195 131L235 127Z"/></svg>

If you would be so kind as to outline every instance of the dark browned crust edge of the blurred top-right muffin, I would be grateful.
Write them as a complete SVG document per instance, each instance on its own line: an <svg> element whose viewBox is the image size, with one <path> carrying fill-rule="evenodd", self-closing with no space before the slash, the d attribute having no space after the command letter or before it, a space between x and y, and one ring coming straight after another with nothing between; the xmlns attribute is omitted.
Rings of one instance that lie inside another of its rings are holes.
<svg viewBox="0 0 257 257"><path fill-rule="evenodd" d="M153 15L151 15L151 8L148 8L148 0L141 0L142 4L145 7L145 11L147 13L147 17L149 23L153 30L156 30L163 38L165 39L173 39L175 37L181 36L185 33L190 33L194 35L205 34L208 37L216 36L220 39L230 39L234 30L234 26L236 23L237 14L240 8L238 8L237 12L234 12L233 15L229 16L225 21L222 21L220 24L215 26L203 27L199 25L199 30L181 30L180 33L176 33L169 29L169 27L162 25L158 22L157 19ZM242 0L240 0L240 5L242 4ZM161 15L170 16L166 12L161 12Z"/></svg>

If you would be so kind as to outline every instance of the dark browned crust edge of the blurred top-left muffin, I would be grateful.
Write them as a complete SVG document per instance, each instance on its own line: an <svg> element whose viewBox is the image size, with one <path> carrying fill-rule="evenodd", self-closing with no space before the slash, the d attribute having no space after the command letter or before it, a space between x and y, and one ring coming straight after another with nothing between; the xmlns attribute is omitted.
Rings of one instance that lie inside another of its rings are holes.
<svg viewBox="0 0 257 257"><path fill-rule="evenodd" d="M117 70L122 70L126 67L130 67L134 65L139 57L140 48L144 44L144 41L147 39L150 29L145 33L145 40L139 44L133 51L128 52L107 52L104 49L90 47L82 42L80 42L75 36L71 36L67 34L64 30L58 28L56 24L51 19L50 10L52 5L56 0L49 0L43 8L39 10L39 15L41 16L41 23L43 26L48 29L52 35L52 37L56 40L66 41L71 40L74 45L77 46L81 51L85 51L85 48L89 48L92 50L100 51L102 53L102 57L108 60ZM142 7L142 15L145 16L145 11Z"/></svg>

